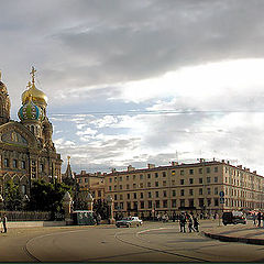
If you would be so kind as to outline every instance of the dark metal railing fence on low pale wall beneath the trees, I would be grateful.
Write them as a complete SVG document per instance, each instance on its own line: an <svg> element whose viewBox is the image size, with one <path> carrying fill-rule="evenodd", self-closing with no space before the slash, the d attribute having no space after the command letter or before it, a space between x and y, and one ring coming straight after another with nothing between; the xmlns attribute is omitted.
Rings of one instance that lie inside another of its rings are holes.
<svg viewBox="0 0 264 264"><path fill-rule="evenodd" d="M52 218L46 211L0 211L0 218L4 215L8 221L48 221Z"/></svg>

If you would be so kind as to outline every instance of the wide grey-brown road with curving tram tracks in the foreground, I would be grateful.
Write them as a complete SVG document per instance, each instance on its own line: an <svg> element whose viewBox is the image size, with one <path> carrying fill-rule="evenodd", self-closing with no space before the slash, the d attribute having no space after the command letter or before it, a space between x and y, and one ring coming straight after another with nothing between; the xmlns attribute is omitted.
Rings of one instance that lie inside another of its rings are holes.
<svg viewBox="0 0 264 264"><path fill-rule="evenodd" d="M205 221L201 230L218 223ZM180 233L178 223L10 230L0 262L263 262L264 246Z"/></svg>

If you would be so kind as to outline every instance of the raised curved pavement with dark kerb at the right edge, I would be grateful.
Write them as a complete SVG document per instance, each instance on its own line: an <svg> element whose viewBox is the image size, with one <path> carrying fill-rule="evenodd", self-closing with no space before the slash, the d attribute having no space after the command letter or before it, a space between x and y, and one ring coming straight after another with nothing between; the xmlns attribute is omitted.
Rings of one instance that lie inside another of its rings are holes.
<svg viewBox="0 0 264 264"><path fill-rule="evenodd" d="M248 224L220 226L213 229L206 229L202 233L208 238L224 242L241 242L264 245L263 224L261 227L256 227L253 222L248 222Z"/></svg>

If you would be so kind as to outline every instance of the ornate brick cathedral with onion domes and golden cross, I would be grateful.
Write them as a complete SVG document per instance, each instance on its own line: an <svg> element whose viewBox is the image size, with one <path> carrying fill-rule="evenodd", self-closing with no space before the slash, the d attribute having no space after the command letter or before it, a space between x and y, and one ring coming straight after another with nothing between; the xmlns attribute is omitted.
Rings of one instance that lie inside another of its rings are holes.
<svg viewBox="0 0 264 264"><path fill-rule="evenodd" d="M35 87L35 72L32 67L32 80L21 97L20 122L10 120L10 98L0 73L0 194L10 179L20 186L23 195L30 194L34 179L62 182L63 161L52 141L47 97Z"/></svg>

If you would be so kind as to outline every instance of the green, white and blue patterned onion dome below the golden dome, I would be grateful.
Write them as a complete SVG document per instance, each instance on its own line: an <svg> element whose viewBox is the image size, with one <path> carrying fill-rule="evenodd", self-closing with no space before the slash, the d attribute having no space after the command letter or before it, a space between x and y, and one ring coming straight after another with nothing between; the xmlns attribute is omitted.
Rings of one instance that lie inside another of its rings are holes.
<svg viewBox="0 0 264 264"><path fill-rule="evenodd" d="M43 110L41 107L37 107L30 97L29 101L24 103L19 112L18 116L21 121L24 120L40 120L42 121L44 118Z"/></svg>

